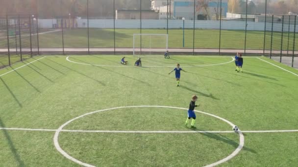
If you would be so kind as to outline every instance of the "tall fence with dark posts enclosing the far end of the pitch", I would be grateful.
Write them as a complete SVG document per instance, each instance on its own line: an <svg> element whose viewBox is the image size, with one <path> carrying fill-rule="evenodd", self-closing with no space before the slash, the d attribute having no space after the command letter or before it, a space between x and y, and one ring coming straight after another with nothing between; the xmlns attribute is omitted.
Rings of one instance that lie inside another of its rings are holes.
<svg viewBox="0 0 298 167"><path fill-rule="evenodd" d="M132 54L133 34L168 34L172 54L241 52L298 67L298 17L267 12L267 0L261 12L249 0L240 12L228 0L128 1L15 0L22 13L0 15L0 68L40 54Z"/></svg>

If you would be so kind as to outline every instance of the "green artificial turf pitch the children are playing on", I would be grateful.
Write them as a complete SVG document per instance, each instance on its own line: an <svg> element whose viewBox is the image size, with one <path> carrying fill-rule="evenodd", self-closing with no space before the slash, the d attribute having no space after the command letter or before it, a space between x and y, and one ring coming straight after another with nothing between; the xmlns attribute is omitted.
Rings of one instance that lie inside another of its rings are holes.
<svg viewBox="0 0 298 167"><path fill-rule="evenodd" d="M297 166L296 69L265 57L244 57L243 73L233 56L121 58L37 56L1 69L0 166ZM196 129L184 126L192 95Z"/></svg>

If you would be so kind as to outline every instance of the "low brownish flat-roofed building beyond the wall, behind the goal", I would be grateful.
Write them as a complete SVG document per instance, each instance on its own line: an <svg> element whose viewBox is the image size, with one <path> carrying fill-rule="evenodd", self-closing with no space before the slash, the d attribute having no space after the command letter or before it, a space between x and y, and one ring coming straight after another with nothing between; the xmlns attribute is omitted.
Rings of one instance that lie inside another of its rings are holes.
<svg viewBox="0 0 298 167"><path fill-rule="evenodd" d="M139 20L140 18L141 18L140 10L116 10L116 20L119 20L119 19ZM154 10L142 10L142 19L144 20L159 19L159 14Z"/></svg>

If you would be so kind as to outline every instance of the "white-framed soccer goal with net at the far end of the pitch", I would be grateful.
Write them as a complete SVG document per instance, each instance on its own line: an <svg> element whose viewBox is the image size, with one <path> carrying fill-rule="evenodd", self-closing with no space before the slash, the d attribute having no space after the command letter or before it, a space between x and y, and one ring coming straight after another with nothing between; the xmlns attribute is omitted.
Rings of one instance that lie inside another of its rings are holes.
<svg viewBox="0 0 298 167"><path fill-rule="evenodd" d="M168 34L133 34L133 55L152 55L168 50Z"/></svg>

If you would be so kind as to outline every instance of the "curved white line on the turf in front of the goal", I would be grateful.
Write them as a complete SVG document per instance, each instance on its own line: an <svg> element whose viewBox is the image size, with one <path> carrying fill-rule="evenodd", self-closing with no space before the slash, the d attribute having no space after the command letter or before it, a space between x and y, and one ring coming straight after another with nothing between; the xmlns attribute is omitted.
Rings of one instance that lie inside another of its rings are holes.
<svg viewBox="0 0 298 167"><path fill-rule="evenodd" d="M68 62L82 64L82 65L92 65L92 66L102 66L102 67L135 67L135 66L127 66L127 65L99 65L99 64L78 63L78 62L74 62L74 61L69 60L70 57L71 56L68 56L66 58L66 60ZM222 65L222 64L232 63L234 60L235 59L232 57L231 61L225 62L225 63L207 64L207 65L193 65L193 66L188 65L188 66L183 66L183 67L204 67L204 66ZM143 66L143 67L164 68L164 67L174 67L174 65L173 66Z"/></svg>

